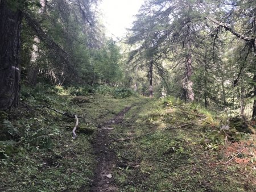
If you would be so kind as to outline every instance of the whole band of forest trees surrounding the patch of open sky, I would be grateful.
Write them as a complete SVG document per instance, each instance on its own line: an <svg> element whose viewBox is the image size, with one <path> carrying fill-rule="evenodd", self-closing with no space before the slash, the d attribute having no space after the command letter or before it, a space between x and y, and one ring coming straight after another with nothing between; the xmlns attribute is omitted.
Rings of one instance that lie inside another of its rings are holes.
<svg viewBox="0 0 256 192"><path fill-rule="evenodd" d="M105 36L96 0L0 3L2 109L18 105L20 85L48 81L134 87L242 116L253 107L255 119L253 0L147 0L122 42Z"/></svg>

